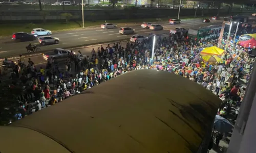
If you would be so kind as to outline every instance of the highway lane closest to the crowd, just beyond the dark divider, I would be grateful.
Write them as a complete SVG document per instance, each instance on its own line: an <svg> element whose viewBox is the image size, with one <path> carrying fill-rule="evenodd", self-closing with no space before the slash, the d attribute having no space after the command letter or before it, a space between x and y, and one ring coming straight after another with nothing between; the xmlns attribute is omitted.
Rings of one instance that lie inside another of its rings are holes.
<svg viewBox="0 0 256 153"><path fill-rule="evenodd" d="M193 28L193 27L196 28L196 27L215 25L215 24L219 24L219 22L210 22L210 23L198 22L197 24L194 24L194 23L193 24L179 24L179 27L188 29L188 28ZM169 27L164 26L164 30L162 30L162 31L152 31L149 29L141 28L141 30L135 30L135 34L144 35L146 37L149 36L150 33L165 34L165 33L169 33L169 30L174 29L175 27L177 27L177 25L170 25ZM69 38L65 41L60 40L59 44L40 46L40 48L41 48L41 50L49 50L49 49L54 49L54 48L77 46L77 45L82 45L82 44L86 45L86 44L91 44L91 43L100 43L100 42L104 42L104 41L118 41L119 39L125 39L125 38L129 39L131 36L132 35L120 35L118 32L103 33L102 35L94 35L92 37L87 36L87 37ZM17 45L17 44L19 44L19 45ZM25 45L23 45L22 43L17 43L17 44L12 45L11 50L8 50L8 52L2 51L0 49L0 57L4 58L4 57L10 57L10 56L27 53L27 50L25 47L28 45L28 43ZM39 46L39 43L37 41L32 42L32 44Z"/></svg>

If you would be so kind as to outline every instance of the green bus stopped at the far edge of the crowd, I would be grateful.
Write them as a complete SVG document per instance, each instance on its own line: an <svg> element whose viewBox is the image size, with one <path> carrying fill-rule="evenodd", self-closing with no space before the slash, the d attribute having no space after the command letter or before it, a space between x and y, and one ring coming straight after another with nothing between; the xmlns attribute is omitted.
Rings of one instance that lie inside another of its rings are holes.
<svg viewBox="0 0 256 153"><path fill-rule="evenodd" d="M209 25L207 27L200 27L196 29L188 29L187 36L189 39L207 40L217 39L220 36L222 25Z"/></svg>

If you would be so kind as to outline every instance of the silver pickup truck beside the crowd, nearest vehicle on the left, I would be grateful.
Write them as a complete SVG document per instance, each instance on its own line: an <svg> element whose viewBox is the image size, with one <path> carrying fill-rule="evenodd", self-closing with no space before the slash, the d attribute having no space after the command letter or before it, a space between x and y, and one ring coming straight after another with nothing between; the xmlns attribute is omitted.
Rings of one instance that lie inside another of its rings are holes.
<svg viewBox="0 0 256 153"><path fill-rule="evenodd" d="M70 50L56 48L53 50L53 52L49 54L42 54L42 58L44 58L46 61L49 61L51 58L63 59L68 58L70 56L70 53ZM73 52L73 54L75 53Z"/></svg>

